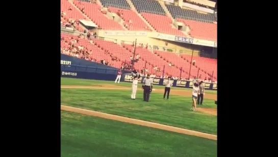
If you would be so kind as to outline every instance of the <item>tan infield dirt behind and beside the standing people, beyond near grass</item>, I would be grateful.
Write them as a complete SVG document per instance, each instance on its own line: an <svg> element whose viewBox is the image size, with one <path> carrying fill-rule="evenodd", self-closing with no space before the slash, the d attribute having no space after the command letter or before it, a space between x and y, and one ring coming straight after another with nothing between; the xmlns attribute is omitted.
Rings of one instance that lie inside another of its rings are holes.
<svg viewBox="0 0 278 157"><path fill-rule="evenodd" d="M96 86L67 86L67 85L61 85L61 88L71 88L71 89L109 89L109 90L131 90L131 88L122 87L122 86L116 86L116 85L96 85ZM141 88L138 88L138 90L142 90ZM163 89L155 89L154 92L158 93L164 93ZM179 96L186 96L190 97L192 96L191 91L185 91L185 90L171 90L171 94L173 95L179 95ZM213 99L217 100L216 94L206 94L207 99ZM213 108L198 108L198 111L217 116L217 109Z"/></svg>

